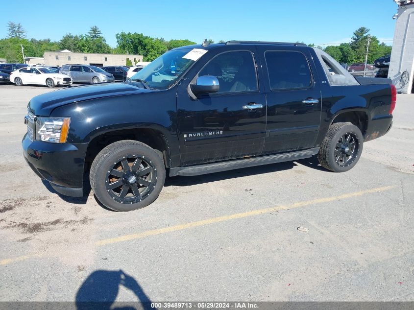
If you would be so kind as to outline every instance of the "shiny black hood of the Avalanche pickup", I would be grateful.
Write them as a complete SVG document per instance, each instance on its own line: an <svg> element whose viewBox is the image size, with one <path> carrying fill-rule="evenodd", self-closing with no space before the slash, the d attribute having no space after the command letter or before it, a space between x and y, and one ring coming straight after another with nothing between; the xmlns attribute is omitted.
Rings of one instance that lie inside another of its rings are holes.
<svg viewBox="0 0 414 310"><path fill-rule="evenodd" d="M126 83L105 83L65 88L33 97L28 109L37 116L49 116L54 108L89 99L154 92Z"/></svg>

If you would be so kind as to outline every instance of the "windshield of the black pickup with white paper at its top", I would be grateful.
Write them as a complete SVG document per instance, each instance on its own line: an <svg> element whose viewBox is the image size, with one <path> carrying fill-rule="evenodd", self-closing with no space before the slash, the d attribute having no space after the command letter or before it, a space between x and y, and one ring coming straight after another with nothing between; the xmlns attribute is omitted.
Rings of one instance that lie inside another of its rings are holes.
<svg viewBox="0 0 414 310"><path fill-rule="evenodd" d="M150 88L169 89L194 60L183 58L192 48L173 49L161 55L131 77L143 80Z"/></svg>

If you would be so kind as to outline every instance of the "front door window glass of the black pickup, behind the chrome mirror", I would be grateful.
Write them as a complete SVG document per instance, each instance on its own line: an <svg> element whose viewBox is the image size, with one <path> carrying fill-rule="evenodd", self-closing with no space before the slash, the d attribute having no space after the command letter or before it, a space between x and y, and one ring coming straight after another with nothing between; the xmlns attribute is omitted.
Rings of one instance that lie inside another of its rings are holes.
<svg viewBox="0 0 414 310"><path fill-rule="evenodd" d="M257 91L257 75L253 55L249 51L225 52L210 60L198 73L214 75L219 93Z"/></svg>

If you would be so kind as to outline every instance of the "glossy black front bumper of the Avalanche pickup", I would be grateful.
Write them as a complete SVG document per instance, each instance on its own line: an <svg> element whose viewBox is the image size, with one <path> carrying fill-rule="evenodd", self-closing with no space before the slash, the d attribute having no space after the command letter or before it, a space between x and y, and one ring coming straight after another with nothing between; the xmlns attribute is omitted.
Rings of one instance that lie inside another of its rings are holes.
<svg viewBox="0 0 414 310"><path fill-rule="evenodd" d="M63 195L81 197L87 143L49 143L22 140L23 156L29 167Z"/></svg>

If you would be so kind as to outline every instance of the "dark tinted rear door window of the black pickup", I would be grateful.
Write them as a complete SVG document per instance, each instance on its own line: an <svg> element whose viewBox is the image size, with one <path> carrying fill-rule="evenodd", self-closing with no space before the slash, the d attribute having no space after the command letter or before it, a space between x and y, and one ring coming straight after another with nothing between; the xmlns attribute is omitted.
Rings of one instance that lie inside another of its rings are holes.
<svg viewBox="0 0 414 310"><path fill-rule="evenodd" d="M265 58L271 90L309 88L312 85L308 60L301 52L267 51Z"/></svg>

